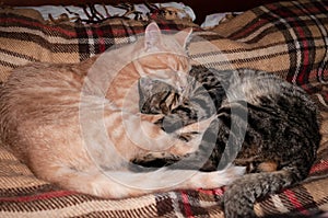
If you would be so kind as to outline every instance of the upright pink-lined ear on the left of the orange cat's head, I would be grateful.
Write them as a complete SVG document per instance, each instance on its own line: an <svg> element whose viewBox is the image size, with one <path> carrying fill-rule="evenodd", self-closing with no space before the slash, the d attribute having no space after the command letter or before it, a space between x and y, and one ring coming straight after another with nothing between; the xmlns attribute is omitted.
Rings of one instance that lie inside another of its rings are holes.
<svg viewBox="0 0 328 218"><path fill-rule="evenodd" d="M144 48L147 50L157 47L162 42L162 33L155 22L150 23L144 32Z"/></svg>

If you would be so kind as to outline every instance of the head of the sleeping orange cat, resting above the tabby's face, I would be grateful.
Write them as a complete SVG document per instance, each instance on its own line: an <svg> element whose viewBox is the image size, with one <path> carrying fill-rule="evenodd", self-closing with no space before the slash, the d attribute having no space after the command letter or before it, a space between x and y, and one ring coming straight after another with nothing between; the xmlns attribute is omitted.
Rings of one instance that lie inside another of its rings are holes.
<svg viewBox="0 0 328 218"><path fill-rule="evenodd" d="M187 77L191 68L186 54L191 32L188 28L175 34L162 34L156 23L149 24L144 37L137 45L141 56L133 61L139 74L183 90L188 84Z"/></svg>

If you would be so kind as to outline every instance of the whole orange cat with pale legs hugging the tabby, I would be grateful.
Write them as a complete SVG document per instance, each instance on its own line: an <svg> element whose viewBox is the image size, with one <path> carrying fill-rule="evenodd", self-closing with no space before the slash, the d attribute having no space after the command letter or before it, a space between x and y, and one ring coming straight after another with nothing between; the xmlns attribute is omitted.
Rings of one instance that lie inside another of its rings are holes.
<svg viewBox="0 0 328 218"><path fill-rule="evenodd" d="M150 151L183 156L200 141L181 141L152 123L159 117L134 113L140 76L184 89L189 35L162 35L151 23L136 43L81 64L32 64L13 70L0 89L1 141L39 179L99 197L231 183L243 168L192 176L186 170L129 170L130 160ZM189 177L177 182L177 175Z"/></svg>

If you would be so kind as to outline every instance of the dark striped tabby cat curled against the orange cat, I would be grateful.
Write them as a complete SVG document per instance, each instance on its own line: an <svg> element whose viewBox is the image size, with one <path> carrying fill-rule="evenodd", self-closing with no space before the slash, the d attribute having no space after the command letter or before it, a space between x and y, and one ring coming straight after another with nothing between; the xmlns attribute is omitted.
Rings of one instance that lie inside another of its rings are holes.
<svg viewBox="0 0 328 218"><path fill-rule="evenodd" d="M165 102L169 99L167 90L173 88L149 79L140 81L143 83L139 87L140 108L143 113L166 114L167 117L156 122L163 129L173 131L209 117L208 112L218 114L198 151L184 159L168 157L160 161L174 169L200 171L220 170L230 162L247 167L249 174L227 187L223 205L227 218L255 217L256 199L307 176L320 140L318 110L301 88L263 71L195 67L190 73L209 94L199 91L199 85L197 89L190 85L189 97L173 91L176 101ZM156 83L162 88L155 87ZM154 92L157 94L153 95ZM161 102L161 105L144 106L144 102ZM157 161L151 156L134 160L147 167Z"/></svg>

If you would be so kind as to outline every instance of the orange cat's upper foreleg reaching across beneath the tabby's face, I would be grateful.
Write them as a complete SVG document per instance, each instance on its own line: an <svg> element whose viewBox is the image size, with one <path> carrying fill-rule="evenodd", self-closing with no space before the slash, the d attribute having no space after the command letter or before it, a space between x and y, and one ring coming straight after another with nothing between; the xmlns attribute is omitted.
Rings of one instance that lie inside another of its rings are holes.
<svg viewBox="0 0 328 218"><path fill-rule="evenodd" d="M148 152L165 151L181 156L195 150L199 144L197 139L186 142L179 140L175 133L165 133L152 123L157 116L132 114L112 104L105 105L105 110L99 110L102 111L95 112L93 108L92 113L87 111L83 114L85 115L83 119L87 124L83 127L84 135L90 136L90 141L93 141L94 136L99 138L101 128L105 127L106 133L102 133L104 138L102 145L113 145L115 150L128 161Z"/></svg>

